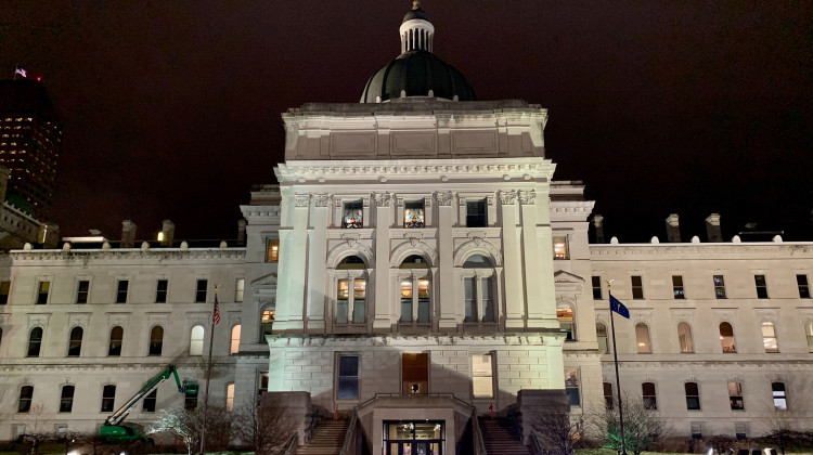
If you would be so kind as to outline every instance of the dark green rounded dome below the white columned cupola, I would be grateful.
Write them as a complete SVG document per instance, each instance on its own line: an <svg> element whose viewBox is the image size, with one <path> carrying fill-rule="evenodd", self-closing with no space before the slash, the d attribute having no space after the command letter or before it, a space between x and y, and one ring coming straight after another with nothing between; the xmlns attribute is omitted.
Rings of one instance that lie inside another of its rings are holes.
<svg viewBox="0 0 813 455"><path fill-rule="evenodd" d="M401 96L433 96L447 100L475 101L474 90L463 74L431 52L409 51L378 69L364 87L361 103L376 103ZM380 100L376 100L380 96Z"/></svg>

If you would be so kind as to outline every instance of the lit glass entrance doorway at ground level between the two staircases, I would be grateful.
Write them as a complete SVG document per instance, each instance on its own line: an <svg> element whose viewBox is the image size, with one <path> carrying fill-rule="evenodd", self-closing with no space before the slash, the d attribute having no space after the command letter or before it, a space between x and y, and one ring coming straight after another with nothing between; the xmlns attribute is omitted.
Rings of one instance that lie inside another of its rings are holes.
<svg viewBox="0 0 813 455"><path fill-rule="evenodd" d="M443 420L385 420L384 446L387 455L442 455Z"/></svg>

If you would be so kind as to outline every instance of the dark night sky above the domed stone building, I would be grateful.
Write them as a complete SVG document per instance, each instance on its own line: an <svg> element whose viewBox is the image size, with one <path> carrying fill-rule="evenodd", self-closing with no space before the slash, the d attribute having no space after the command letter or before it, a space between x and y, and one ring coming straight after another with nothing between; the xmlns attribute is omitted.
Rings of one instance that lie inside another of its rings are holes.
<svg viewBox="0 0 813 455"><path fill-rule="evenodd" d="M0 68L41 76L63 118L63 235L121 220L232 238L273 183L280 114L358 102L399 53L408 0L0 2ZM550 109L557 180L606 235L684 239L747 222L813 240L813 3L426 0L435 52L480 100Z"/></svg>

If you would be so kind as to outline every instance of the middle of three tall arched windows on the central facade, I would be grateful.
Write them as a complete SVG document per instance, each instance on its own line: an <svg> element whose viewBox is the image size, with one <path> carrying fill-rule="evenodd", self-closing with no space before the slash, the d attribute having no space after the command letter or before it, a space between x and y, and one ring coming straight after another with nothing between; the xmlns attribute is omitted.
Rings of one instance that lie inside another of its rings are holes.
<svg viewBox="0 0 813 455"><path fill-rule="evenodd" d="M429 264L424 257L412 255L401 262L401 323L417 321L426 324L431 321L431 306L429 301Z"/></svg>

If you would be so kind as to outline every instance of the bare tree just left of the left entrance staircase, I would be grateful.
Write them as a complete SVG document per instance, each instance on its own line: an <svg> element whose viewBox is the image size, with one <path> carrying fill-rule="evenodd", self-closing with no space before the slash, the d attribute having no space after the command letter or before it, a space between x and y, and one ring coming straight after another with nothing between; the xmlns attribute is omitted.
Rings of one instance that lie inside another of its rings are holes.
<svg viewBox="0 0 813 455"><path fill-rule="evenodd" d="M272 401L266 401L260 406L247 401L234 413L234 435L258 455L282 448L296 431L296 422L286 408Z"/></svg>

